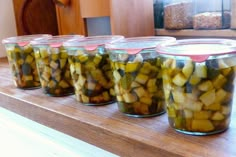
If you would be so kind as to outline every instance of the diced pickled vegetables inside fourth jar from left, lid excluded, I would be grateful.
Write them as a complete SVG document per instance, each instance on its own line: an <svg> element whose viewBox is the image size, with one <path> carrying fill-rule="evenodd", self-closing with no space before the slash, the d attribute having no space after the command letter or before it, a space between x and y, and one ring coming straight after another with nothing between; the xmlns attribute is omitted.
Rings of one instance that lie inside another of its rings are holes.
<svg viewBox="0 0 236 157"><path fill-rule="evenodd" d="M164 113L160 60L143 59L141 54L130 55L129 58L133 60L113 60L111 63L119 110L134 117Z"/></svg>

